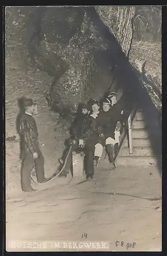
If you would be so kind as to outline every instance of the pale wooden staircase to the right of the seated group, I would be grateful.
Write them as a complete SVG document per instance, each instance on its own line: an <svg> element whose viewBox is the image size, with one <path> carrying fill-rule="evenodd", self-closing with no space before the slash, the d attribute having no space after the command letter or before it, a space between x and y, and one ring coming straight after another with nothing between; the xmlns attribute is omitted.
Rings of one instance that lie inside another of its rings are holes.
<svg viewBox="0 0 167 256"><path fill-rule="evenodd" d="M128 139L128 135L125 136L120 151L116 157L115 164L117 166L156 166L157 159L151 147L144 116L141 110L138 110L134 116L131 124L130 136L131 140ZM131 150L129 150L130 141Z"/></svg>

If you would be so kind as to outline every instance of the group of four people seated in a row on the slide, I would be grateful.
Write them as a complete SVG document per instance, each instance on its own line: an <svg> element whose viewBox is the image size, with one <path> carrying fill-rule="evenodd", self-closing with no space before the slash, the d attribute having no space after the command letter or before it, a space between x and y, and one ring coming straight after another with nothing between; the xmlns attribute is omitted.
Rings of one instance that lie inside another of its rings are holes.
<svg viewBox="0 0 167 256"><path fill-rule="evenodd" d="M72 164L72 151L77 152L79 148L84 149L85 152L87 179L93 178L94 167L98 165L104 146L110 169L116 168L114 155L118 152L123 116L124 110L122 105L117 103L116 92L108 93L101 104L96 99L83 104L71 126L71 154L68 154L69 147L67 147L64 156L59 159L61 166L66 160L65 168L59 177L67 177Z"/></svg>

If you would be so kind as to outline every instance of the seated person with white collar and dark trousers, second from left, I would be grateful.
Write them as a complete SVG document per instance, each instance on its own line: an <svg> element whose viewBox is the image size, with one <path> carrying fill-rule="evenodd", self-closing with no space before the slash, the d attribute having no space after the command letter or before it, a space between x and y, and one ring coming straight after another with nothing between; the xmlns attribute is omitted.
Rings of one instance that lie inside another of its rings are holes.
<svg viewBox="0 0 167 256"><path fill-rule="evenodd" d="M82 135L81 139L85 142L85 157L86 157L86 175L87 179L92 179L94 175L94 151L95 151L95 144L98 142L101 145L101 138L97 132L97 124L96 119L99 116L99 102L95 99L89 102L90 106L92 107L91 114L85 119L84 125L82 128Z"/></svg>

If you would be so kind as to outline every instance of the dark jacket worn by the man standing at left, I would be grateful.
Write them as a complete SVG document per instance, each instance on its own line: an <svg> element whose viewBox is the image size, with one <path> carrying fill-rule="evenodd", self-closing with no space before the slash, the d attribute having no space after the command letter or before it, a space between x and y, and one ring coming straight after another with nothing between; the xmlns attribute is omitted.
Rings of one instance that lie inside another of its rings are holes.
<svg viewBox="0 0 167 256"><path fill-rule="evenodd" d="M24 151L34 154L38 151L38 129L34 117L23 114L20 119L20 135L24 143Z"/></svg>

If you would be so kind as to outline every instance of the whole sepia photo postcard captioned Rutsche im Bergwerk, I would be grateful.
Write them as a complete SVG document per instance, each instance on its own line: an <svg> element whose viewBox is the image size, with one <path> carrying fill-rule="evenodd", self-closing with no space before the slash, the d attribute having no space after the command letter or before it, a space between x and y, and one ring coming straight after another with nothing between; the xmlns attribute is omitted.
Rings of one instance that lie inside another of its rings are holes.
<svg viewBox="0 0 167 256"><path fill-rule="evenodd" d="M7 251L161 251L161 7L6 6Z"/></svg>

